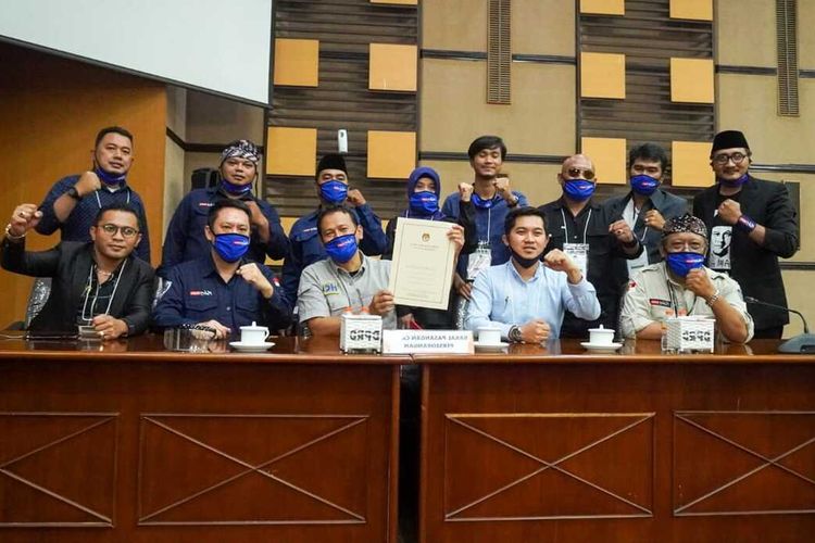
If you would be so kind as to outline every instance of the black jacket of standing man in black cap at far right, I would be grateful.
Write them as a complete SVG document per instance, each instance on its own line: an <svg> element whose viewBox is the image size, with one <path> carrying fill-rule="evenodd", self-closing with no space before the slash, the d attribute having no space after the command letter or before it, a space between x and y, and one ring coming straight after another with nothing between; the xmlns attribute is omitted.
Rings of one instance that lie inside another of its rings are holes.
<svg viewBox="0 0 815 543"><path fill-rule="evenodd" d="M764 244L758 245L738 228L730 241L730 277L741 286L745 296L763 302L787 305L778 257L789 258L798 251L798 213L787 187L750 176L738 195L741 213L766 228ZM693 198L693 215L704 220L707 236L714 226L718 207L718 186L710 187ZM783 311L748 303L755 329L774 328L790 321Z"/></svg>

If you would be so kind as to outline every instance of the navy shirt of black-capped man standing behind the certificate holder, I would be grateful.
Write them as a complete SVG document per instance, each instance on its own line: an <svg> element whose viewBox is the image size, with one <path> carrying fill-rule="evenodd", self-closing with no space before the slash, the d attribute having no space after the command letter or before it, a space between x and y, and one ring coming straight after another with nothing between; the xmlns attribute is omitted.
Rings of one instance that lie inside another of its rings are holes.
<svg viewBox="0 0 815 543"><path fill-rule="evenodd" d="M360 250L368 256L383 254L388 249L388 238L383 230L383 222L368 204L353 207L353 211L362 226ZM319 210L314 210L298 218L289 232L291 250L283 264L283 289L292 304L297 302L297 289L303 269L328 257L317 235L318 214Z"/></svg>

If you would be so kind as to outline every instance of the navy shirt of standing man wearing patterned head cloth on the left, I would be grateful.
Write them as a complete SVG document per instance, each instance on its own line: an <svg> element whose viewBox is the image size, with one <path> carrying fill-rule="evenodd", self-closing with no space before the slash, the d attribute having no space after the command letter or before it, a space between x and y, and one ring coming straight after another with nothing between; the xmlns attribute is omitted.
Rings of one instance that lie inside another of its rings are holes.
<svg viewBox="0 0 815 543"><path fill-rule="evenodd" d="M215 202L228 198L218 187L191 190L178 204L167 227L164 239L161 266L156 273L166 277L170 268L181 262L191 261L203 254L209 254L212 245L204 237L206 216ZM277 211L264 200L249 197L260 207L263 216L268 220L268 242L261 241L258 229L253 226L249 240L247 258L254 262L265 262L266 255L274 260L285 257L289 252L289 238L280 226Z"/></svg>

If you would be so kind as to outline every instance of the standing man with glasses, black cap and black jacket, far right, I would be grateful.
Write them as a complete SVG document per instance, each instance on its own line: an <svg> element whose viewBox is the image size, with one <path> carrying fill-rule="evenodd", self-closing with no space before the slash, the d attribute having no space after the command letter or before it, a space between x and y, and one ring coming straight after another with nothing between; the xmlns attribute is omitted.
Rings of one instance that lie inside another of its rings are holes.
<svg viewBox="0 0 815 543"><path fill-rule="evenodd" d="M789 258L799 248L798 213L787 187L753 177L750 146L738 130L718 132L711 149L716 185L693 198L693 215L704 220L712 239L726 239L709 265L736 279L744 295L787 306L778 257ZM780 338L789 314L749 304L756 338Z"/></svg>

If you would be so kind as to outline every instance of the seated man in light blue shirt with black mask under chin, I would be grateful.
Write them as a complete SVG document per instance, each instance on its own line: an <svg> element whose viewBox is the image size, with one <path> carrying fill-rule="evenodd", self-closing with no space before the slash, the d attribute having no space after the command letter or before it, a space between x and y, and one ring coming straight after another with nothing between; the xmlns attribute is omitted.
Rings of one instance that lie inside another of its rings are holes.
<svg viewBox="0 0 815 543"><path fill-rule="evenodd" d="M541 262L546 226L543 212L535 207L506 215L502 240L512 256L476 277L466 328L494 326L503 339L542 343L559 338L566 310L587 320L600 316L594 287L566 253L553 249Z"/></svg>

